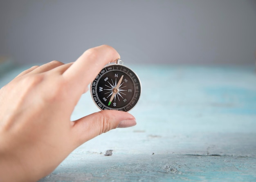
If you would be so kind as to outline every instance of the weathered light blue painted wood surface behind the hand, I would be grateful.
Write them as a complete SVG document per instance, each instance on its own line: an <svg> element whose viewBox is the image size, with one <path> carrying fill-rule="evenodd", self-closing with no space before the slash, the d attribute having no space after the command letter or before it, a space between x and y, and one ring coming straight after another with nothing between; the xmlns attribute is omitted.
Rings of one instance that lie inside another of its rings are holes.
<svg viewBox="0 0 256 182"><path fill-rule="evenodd" d="M256 181L254 66L127 66L141 78L137 125L86 142L40 182ZM97 111L85 93L72 120Z"/></svg>

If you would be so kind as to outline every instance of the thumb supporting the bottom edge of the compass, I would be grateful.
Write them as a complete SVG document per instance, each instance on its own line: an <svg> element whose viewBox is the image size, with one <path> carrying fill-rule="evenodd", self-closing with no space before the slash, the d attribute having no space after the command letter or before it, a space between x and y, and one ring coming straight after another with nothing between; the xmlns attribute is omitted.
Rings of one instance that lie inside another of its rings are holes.
<svg viewBox="0 0 256 182"><path fill-rule="evenodd" d="M73 122L72 136L77 146L110 131L136 125L134 116L124 111L105 110L87 115Z"/></svg>

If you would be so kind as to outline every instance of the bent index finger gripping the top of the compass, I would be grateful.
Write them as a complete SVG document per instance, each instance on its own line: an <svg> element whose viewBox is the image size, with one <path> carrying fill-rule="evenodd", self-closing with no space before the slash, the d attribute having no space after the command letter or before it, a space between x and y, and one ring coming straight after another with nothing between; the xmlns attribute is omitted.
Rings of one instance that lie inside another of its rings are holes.
<svg viewBox="0 0 256 182"><path fill-rule="evenodd" d="M63 77L70 82L72 89L82 94L101 69L118 58L119 53L108 45L88 49L63 73Z"/></svg>

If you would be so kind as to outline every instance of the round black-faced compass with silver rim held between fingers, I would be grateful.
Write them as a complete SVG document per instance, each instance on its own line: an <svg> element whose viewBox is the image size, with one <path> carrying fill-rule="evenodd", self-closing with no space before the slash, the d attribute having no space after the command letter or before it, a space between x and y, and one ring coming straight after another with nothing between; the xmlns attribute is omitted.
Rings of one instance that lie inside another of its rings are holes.
<svg viewBox="0 0 256 182"><path fill-rule="evenodd" d="M91 94L101 110L130 111L141 95L137 74L117 59L105 66L91 84Z"/></svg>

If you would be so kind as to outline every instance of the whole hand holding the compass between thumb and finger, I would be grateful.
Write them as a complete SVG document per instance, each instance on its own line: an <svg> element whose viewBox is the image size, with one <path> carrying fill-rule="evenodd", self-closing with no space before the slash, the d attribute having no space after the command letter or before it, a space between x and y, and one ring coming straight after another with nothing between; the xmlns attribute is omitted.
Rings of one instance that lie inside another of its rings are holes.
<svg viewBox="0 0 256 182"><path fill-rule="evenodd" d="M74 63L31 67L0 89L1 182L39 180L84 142L136 124L129 113L110 110L70 121L88 84L119 57L112 47L95 47Z"/></svg>

